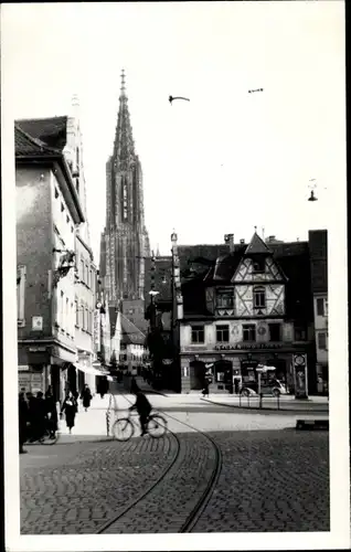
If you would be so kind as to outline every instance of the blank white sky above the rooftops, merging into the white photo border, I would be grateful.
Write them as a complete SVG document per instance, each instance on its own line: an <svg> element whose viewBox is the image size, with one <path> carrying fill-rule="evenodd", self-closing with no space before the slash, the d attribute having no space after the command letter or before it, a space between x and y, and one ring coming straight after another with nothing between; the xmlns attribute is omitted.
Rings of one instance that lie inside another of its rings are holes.
<svg viewBox="0 0 351 552"><path fill-rule="evenodd" d="M343 214L343 2L22 3L1 12L13 117L71 114L79 97L96 261L121 68L152 248L169 254L173 229L180 244L223 243L225 233L249 240L254 226L305 240ZM170 105L169 95L190 102ZM310 179L317 202L307 201Z"/></svg>

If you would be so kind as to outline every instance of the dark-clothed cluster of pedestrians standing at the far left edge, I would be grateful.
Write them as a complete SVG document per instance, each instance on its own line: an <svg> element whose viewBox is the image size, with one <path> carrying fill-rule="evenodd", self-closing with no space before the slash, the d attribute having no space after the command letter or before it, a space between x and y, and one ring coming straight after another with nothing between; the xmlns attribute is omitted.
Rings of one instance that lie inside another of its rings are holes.
<svg viewBox="0 0 351 552"><path fill-rule="evenodd" d="M19 438L20 454L25 453L24 443L41 442L47 435L54 439L57 432L57 407L52 389L49 386L45 396L41 391L19 394Z"/></svg>

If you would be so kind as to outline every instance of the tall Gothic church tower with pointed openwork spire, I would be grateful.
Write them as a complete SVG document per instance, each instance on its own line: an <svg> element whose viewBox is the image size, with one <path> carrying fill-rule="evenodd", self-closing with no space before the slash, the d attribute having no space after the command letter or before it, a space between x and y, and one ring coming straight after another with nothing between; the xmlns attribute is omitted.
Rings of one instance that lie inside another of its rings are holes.
<svg viewBox="0 0 351 552"><path fill-rule="evenodd" d="M143 326L145 257L149 256L149 236L145 226L142 171L132 138L124 71L114 151L106 163L106 184L100 279L109 305L140 327L140 323ZM136 318L140 318L140 323Z"/></svg>

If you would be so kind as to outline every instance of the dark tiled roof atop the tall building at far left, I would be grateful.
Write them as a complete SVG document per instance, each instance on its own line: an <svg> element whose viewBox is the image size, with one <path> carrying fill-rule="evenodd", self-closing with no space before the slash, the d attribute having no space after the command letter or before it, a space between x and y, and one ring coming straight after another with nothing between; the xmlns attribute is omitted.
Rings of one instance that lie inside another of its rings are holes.
<svg viewBox="0 0 351 552"><path fill-rule="evenodd" d="M19 119L15 124L28 135L60 151L67 141L67 117L46 117L43 119Z"/></svg>

